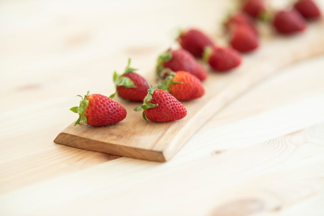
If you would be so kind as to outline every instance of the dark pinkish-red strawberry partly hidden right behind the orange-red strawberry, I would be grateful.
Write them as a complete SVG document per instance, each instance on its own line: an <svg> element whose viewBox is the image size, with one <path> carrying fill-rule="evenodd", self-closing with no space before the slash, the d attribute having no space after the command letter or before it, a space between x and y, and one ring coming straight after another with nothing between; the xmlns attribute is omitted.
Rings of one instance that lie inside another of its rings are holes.
<svg viewBox="0 0 324 216"><path fill-rule="evenodd" d="M157 59L156 72L160 78L165 78L164 68L172 71L187 71L198 79L207 78L207 71L200 65L190 52L179 50L168 50L162 53Z"/></svg>

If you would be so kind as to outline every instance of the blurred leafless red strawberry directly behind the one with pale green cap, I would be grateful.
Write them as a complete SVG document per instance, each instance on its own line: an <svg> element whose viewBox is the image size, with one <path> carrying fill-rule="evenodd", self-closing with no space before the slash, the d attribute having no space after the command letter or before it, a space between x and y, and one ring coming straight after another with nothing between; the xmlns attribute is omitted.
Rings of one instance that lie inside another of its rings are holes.
<svg viewBox="0 0 324 216"><path fill-rule="evenodd" d="M231 45L240 52L248 52L259 46L258 36L248 25L241 24L232 33Z"/></svg>

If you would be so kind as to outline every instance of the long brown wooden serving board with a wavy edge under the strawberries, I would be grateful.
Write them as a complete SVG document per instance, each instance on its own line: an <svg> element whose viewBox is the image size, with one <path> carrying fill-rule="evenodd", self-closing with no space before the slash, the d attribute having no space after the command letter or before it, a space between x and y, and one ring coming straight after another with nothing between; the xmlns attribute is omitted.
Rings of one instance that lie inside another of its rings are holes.
<svg viewBox="0 0 324 216"><path fill-rule="evenodd" d="M203 83L206 94L183 102L188 110L184 119L146 123L141 112L133 111L139 104L117 99L127 110L123 121L105 127L86 124L73 127L73 122L58 134L54 142L95 152L168 161L208 119L253 85L284 66L321 53L324 53L323 21L309 25L301 34L266 37L262 39L259 50L243 55L243 63L237 69L224 74L210 70Z"/></svg>

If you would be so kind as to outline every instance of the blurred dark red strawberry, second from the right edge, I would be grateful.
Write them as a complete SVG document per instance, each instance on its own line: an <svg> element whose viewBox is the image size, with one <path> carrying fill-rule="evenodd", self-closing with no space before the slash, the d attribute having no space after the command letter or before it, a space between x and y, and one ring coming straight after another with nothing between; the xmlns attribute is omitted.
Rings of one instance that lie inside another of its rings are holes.
<svg viewBox="0 0 324 216"><path fill-rule="evenodd" d="M294 9L279 11L274 16L273 25L283 34L292 34L306 28L305 19Z"/></svg>

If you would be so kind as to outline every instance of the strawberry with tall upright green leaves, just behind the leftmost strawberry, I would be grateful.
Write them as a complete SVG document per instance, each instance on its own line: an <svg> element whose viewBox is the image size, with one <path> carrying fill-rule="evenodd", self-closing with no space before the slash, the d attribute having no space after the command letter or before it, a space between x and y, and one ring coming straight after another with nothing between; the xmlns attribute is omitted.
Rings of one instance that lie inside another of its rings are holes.
<svg viewBox="0 0 324 216"><path fill-rule="evenodd" d="M137 69L131 68L130 64L131 59L128 59L128 64L123 74L118 75L117 72L114 72L113 80L116 85L116 92L126 100L143 101L148 85L142 76L133 72ZM116 92L109 97L114 97Z"/></svg>

